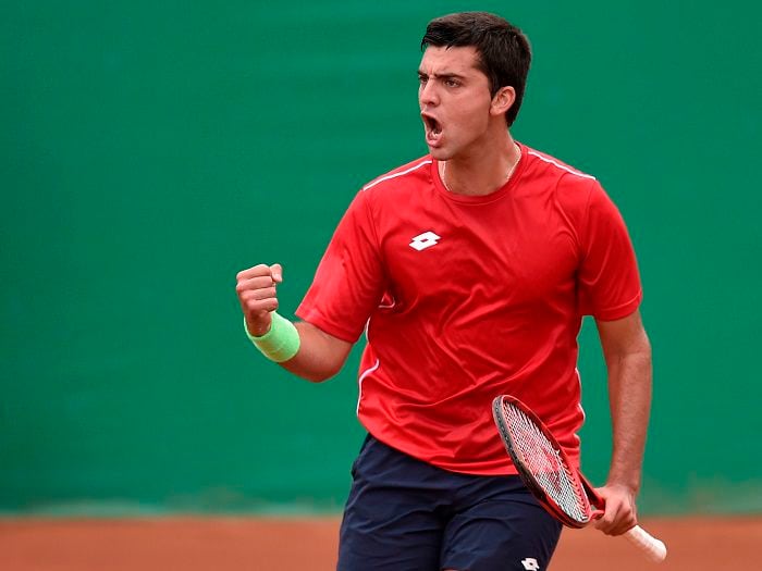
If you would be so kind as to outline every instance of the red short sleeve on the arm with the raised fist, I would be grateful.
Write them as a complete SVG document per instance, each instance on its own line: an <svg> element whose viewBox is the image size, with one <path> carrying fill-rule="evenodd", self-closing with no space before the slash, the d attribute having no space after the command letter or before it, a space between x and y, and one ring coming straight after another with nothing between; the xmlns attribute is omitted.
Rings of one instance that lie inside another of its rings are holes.
<svg viewBox="0 0 762 571"><path fill-rule="evenodd" d="M360 191L349 204L296 314L348 343L362 334L384 291L384 272L368 204Z"/></svg>

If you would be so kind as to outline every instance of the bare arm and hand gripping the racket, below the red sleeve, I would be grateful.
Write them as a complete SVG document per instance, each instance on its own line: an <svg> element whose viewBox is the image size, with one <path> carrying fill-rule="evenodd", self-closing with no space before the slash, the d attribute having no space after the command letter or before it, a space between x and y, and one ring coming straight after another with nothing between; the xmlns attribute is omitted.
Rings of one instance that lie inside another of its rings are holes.
<svg viewBox="0 0 762 571"><path fill-rule="evenodd" d="M613 451L606 484L598 488L606 500L597 527L619 535L637 524L646 433L651 410L651 344L640 312L616 321L597 321L609 370Z"/></svg>

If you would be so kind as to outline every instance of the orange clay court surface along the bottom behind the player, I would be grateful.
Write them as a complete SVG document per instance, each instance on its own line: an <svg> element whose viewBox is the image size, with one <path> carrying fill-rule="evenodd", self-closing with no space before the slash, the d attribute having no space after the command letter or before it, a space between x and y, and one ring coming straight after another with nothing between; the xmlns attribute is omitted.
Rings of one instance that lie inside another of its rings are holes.
<svg viewBox="0 0 762 571"><path fill-rule="evenodd" d="M554 571L762 569L762 518L652 518L661 566L625 539L565 530ZM2 571L329 571L339 519L0 519Z"/></svg>

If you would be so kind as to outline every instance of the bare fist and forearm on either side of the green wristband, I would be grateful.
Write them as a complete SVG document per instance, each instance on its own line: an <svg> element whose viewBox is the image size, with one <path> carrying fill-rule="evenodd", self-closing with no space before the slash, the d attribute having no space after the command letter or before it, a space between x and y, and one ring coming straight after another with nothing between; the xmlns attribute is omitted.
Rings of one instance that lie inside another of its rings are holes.
<svg viewBox="0 0 762 571"><path fill-rule="evenodd" d="M280 264L259 264L239 272L236 293L246 319L246 328L257 337L270 331L272 312L278 309L276 285L283 282ZM299 350L281 364L286 371L312 382L335 375L344 365L352 344L334 337L305 321L294 324Z"/></svg>

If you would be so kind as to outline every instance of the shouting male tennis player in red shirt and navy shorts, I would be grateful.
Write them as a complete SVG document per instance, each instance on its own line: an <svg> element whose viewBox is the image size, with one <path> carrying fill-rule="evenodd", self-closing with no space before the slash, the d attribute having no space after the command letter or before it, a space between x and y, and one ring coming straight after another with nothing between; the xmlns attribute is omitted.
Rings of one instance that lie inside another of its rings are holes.
<svg viewBox="0 0 762 571"><path fill-rule="evenodd" d="M357 194L303 321L274 312L279 264L241 272L237 293L254 344L311 381L335 374L367 325L357 414L369 435L339 569L545 569L561 525L516 475L490 405L518 397L578 462L577 334L591 314L614 442L598 525L631 527L651 399L636 259L594 177L512 138L530 62L518 28L452 14L421 47L429 154Z"/></svg>

